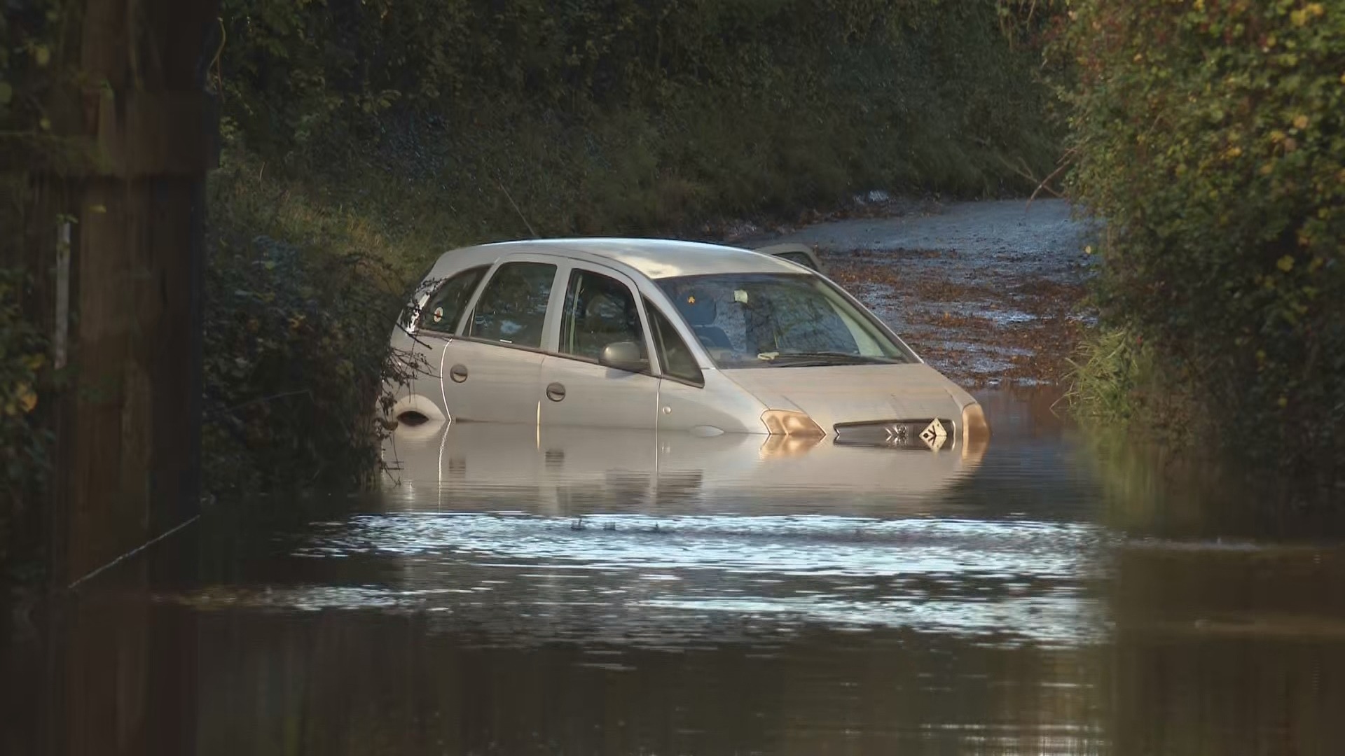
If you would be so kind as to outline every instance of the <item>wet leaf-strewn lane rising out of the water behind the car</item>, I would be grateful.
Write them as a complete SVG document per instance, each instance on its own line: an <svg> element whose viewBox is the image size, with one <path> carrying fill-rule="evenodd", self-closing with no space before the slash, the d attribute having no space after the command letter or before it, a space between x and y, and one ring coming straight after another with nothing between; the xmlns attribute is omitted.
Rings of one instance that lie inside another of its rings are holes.
<svg viewBox="0 0 1345 756"><path fill-rule="evenodd" d="M1084 253L1091 229L1065 202L888 207L882 217L787 233L745 227L726 241L812 246L827 274L959 383L1064 379L1092 260Z"/></svg>

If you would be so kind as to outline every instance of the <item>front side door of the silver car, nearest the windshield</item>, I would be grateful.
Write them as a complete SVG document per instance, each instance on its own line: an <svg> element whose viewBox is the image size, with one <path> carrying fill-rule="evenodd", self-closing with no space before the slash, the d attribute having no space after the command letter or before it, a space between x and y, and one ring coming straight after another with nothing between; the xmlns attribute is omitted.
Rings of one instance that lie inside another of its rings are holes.
<svg viewBox="0 0 1345 756"><path fill-rule="evenodd" d="M633 281L599 265L576 262L553 319L554 347L542 359L539 421L549 425L646 428L658 425L659 379L650 328ZM643 369L601 362L608 344L635 344Z"/></svg>

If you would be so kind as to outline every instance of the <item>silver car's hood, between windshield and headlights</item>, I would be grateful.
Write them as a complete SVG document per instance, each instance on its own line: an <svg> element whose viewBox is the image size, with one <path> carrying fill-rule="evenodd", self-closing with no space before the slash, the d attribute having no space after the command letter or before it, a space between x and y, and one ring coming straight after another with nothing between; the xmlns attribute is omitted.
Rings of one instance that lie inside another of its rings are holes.
<svg viewBox="0 0 1345 756"><path fill-rule="evenodd" d="M962 422L971 394L923 363L746 367L724 375L771 409L807 413L829 433L842 422L923 420Z"/></svg>

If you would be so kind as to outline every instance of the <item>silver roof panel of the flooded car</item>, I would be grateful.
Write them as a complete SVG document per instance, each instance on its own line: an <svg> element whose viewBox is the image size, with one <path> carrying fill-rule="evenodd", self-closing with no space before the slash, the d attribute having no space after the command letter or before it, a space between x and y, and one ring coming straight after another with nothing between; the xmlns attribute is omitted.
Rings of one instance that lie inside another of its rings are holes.
<svg viewBox="0 0 1345 756"><path fill-rule="evenodd" d="M798 273L794 262L748 249L679 239L620 237L527 239L484 243L455 250L448 256L483 252L492 256L514 253L581 253L627 265L650 278L698 276L705 273ZM447 256L445 256L447 257Z"/></svg>

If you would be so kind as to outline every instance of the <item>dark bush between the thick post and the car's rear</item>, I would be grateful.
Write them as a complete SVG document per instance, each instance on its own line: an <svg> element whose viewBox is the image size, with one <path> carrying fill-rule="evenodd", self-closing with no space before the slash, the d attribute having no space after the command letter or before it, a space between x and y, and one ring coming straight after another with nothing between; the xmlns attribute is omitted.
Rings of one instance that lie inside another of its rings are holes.
<svg viewBox="0 0 1345 756"><path fill-rule="evenodd" d="M378 469L375 408L399 378L401 276L369 237L229 167L211 182L204 483L351 488ZM335 215L335 217L334 217Z"/></svg>

